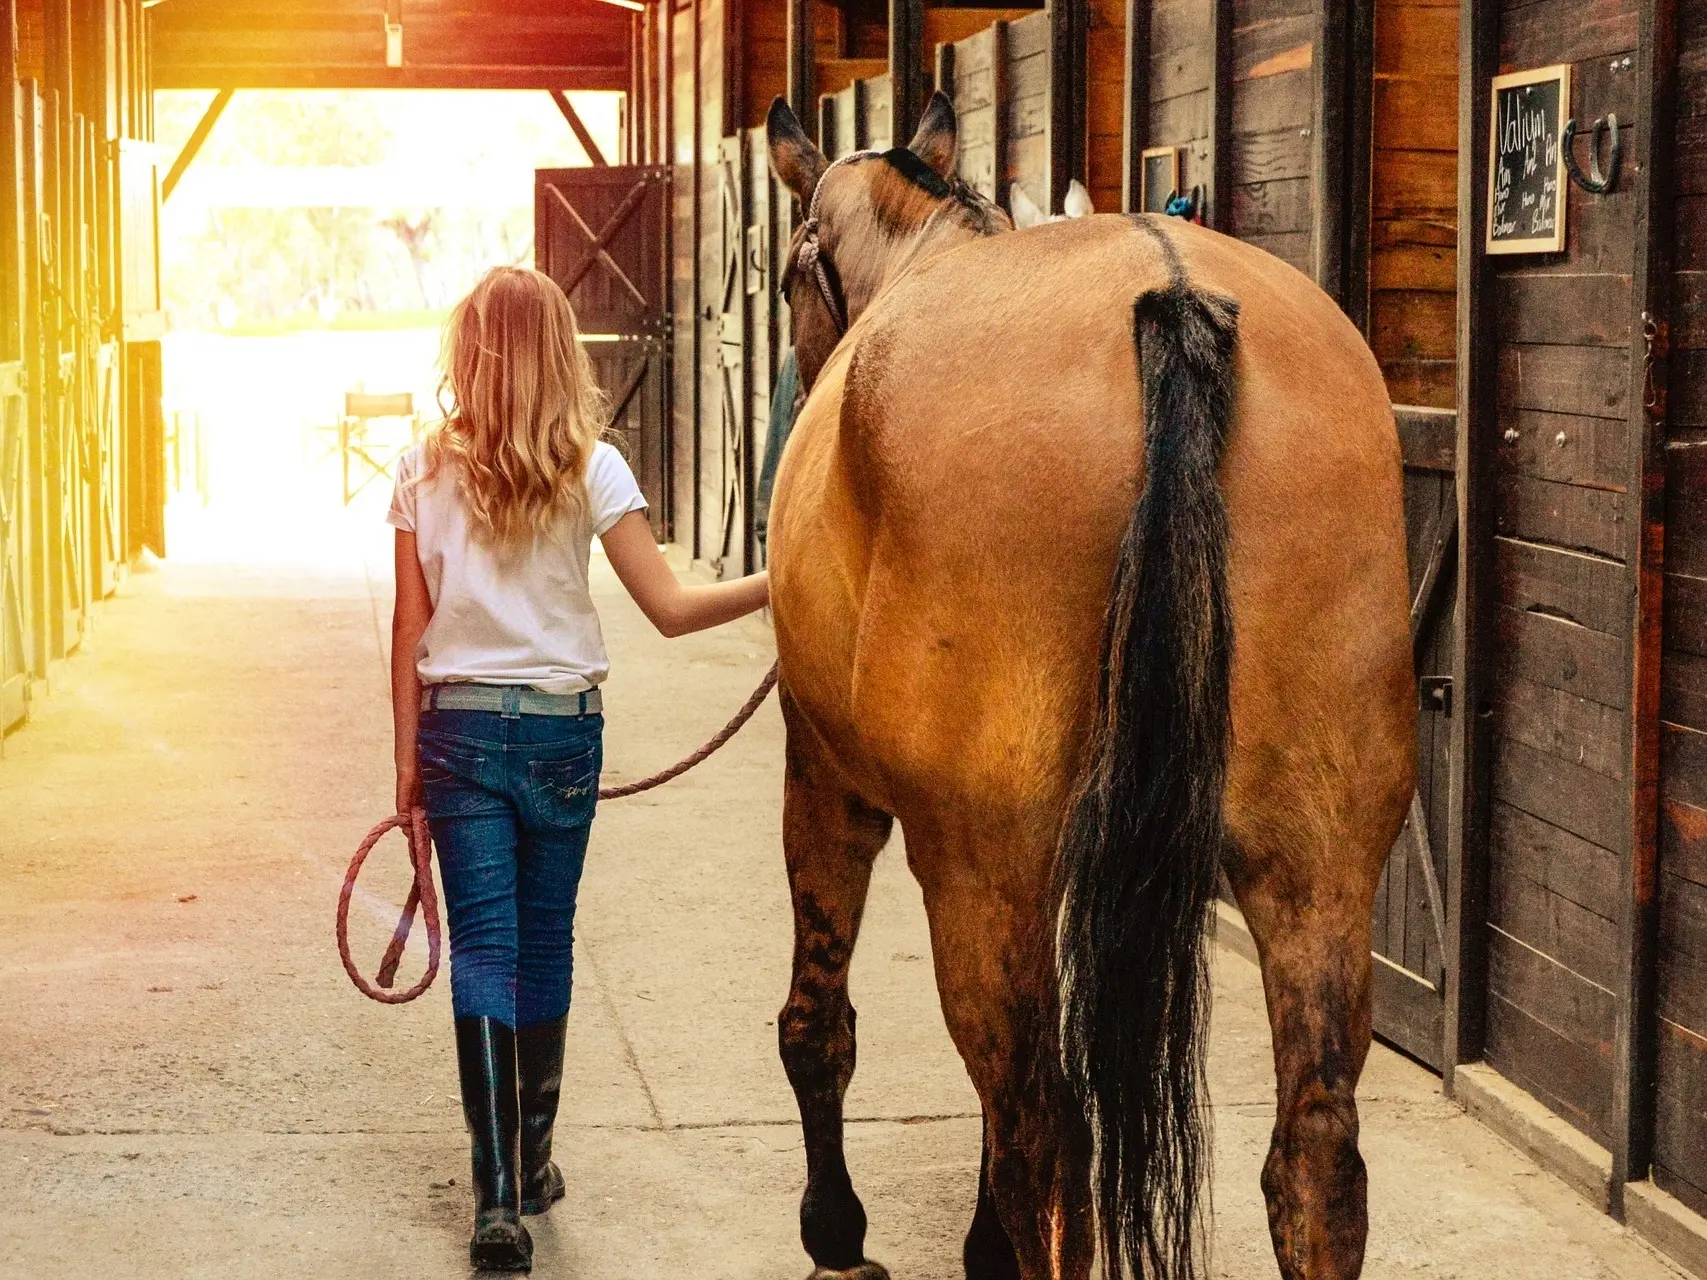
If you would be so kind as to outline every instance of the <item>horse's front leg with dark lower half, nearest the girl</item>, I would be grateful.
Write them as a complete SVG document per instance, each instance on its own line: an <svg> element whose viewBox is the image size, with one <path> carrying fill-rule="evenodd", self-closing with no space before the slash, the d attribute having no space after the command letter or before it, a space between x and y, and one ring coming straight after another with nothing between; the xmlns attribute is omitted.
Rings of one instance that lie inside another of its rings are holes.
<svg viewBox="0 0 1707 1280"><path fill-rule="evenodd" d="M813 1280L883 1280L865 1260L865 1207L842 1150L842 1096L854 1079L848 961L859 937L871 865L893 819L848 790L818 734L784 695L789 729L782 843L794 896L794 981L777 1017L782 1065L806 1137L801 1242Z"/></svg>

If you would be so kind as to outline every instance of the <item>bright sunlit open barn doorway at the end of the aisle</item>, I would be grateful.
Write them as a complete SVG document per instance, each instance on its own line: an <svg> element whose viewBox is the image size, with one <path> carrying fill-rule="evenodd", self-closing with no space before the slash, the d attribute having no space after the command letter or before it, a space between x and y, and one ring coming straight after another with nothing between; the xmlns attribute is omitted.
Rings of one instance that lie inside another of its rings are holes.
<svg viewBox="0 0 1707 1280"><path fill-rule="evenodd" d="M394 461L439 416L451 305L534 265L536 171L623 154L623 94L565 101L587 143L539 90L246 90L213 113L160 210L174 560L329 567L382 543ZM162 155L215 102L160 90Z"/></svg>

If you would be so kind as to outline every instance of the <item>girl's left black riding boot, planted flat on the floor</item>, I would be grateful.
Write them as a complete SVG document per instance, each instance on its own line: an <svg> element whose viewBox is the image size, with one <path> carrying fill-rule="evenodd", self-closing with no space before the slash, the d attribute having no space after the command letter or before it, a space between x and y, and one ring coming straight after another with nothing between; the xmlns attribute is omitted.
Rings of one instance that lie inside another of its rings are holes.
<svg viewBox="0 0 1707 1280"><path fill-rule="evenodd" d="M468 1260L480 1271L533 1270L533 1237L521 1220L521 1121L516 1033L490 1017L456 1019L463 1118L475 1147L475 1236Z"/></svg>

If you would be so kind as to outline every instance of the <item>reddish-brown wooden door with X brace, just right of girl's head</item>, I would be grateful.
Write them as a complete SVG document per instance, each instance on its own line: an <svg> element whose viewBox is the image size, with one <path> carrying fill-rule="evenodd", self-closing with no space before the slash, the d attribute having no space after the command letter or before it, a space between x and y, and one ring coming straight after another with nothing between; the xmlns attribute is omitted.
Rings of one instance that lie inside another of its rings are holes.
<svg viewBox="0 0 1707 1280"><path fill-rule="evenodd" d="M534 259L575 307L611 396L611 442L633 468L659 538L667 534L669 186L662 166L534 172Z"/></svg>

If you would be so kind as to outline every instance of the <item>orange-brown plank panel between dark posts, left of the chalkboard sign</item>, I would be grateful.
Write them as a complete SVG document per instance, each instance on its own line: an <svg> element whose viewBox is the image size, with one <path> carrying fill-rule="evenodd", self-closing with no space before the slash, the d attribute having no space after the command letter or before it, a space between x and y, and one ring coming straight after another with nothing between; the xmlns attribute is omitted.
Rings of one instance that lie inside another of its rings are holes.
<svg viewBox="0 0 1707 1280"><path fill-rule="evenodd" d="M1369 345L1395 404L1453 408L1458 5L1374 0Z"/></svg>

